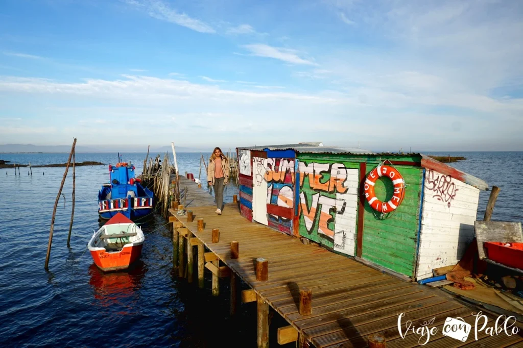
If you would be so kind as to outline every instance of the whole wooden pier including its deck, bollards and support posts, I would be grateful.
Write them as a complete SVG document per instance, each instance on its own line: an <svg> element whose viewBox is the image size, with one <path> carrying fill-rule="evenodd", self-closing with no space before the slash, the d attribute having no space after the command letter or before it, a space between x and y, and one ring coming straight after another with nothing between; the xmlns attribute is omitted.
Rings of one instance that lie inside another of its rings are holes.
<svg viewBox="0 0 523 348"><path fill-rule="evenodd" d="M268 306L289 323L278 329L278 342L296 341L298 347L422 346L426 335L409 331L404 338L400 336L401 313L405 314L404 334L406 321L412 321L412 330L435 318L427 326L437 327L438 331L430 335L426 347L523 346L521 330L510 336L505 332L491 336L483 330L476 341L473 313L478 310L465 307L438 289L404 282L353 259L251 223L240 215L237 204L226 204L222 215L217 215L209 192L185 178L180 188L187 194L185 207L180 207L183 211L169 210L178 274L203 287L203 272L211 271L210 288L215 296L219 295L219 281L228 278L231 314L240 301L257 301L258 347L268 346ZM268 271L266 280L263 271ZM239 279L251 289L237 294ZM471 324L467 341L442 334L447 317L460 317ZM495 319L490 317L487 327L494 327Z"/></svg>

